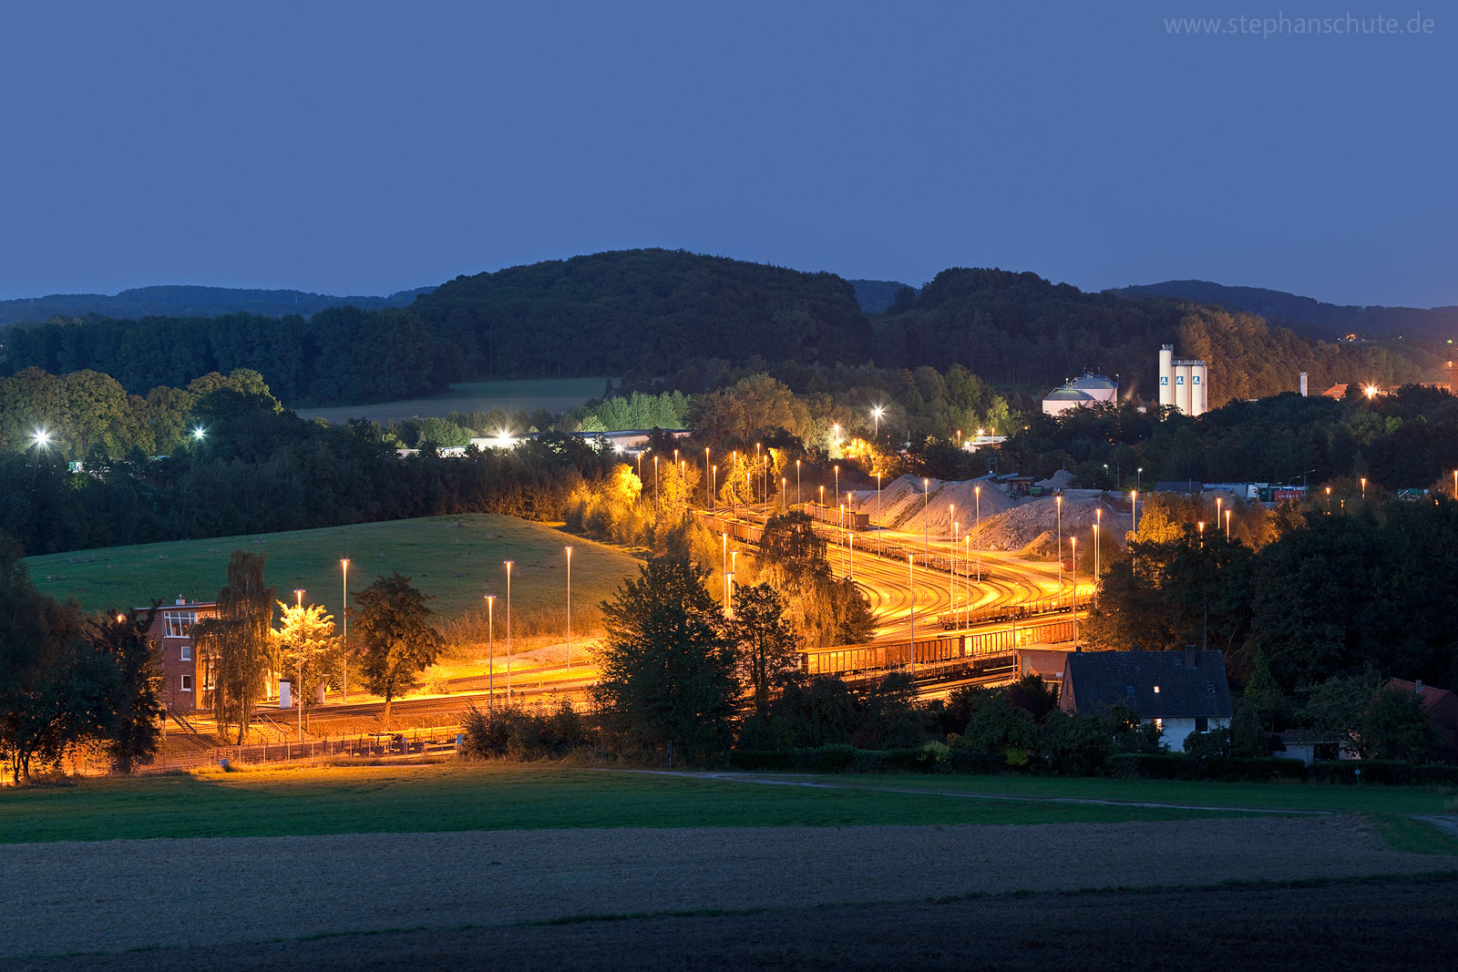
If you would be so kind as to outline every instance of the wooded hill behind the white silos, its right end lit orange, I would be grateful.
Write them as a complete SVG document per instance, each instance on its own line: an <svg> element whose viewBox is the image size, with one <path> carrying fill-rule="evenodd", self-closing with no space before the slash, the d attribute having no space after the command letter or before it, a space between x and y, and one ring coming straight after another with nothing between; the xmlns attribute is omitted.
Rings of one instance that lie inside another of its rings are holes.
<svg viewBox="0 0 1458 972"><path fill-rule="evenodd" d="M1324 383L1403 383L1438 361L1376 345L1306 341L1260 316L1168 297L1083 293L1031 273L945 270L920 294L903 291L876 322L878 363L961 361L1003 386L1048 389L1085 369L1118 375L1155 396L1159 345L1210 361L1210 407ZM1416 358L1416 360L1414 360Z"/></svg>

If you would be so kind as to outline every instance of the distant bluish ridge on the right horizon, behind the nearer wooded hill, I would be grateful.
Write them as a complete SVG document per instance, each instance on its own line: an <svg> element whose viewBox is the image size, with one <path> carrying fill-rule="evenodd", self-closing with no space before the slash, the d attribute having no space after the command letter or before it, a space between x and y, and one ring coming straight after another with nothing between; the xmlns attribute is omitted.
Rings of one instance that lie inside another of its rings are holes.
<svg viewBox="0 0 1458 972"><path fill-rule="evenodd" d="M1226 287L1209 280L1166 280L1159 284L1121 287L1115 293L1162 296L1217 303L1258 313L1273 324L1337 338L1346 334L1371 340L1458 338L1458 307L1357 307L1325 303L1266 287Z"/></svg>

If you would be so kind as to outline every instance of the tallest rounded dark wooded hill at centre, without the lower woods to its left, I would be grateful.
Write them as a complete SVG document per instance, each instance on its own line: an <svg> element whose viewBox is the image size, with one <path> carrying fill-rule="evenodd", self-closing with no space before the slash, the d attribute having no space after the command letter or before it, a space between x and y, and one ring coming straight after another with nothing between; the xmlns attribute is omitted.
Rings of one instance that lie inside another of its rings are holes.
<svg viewBox="0 0 1458 972"><path fill-rule="evenodd" d="M456 277L411 305L449 379L663 373L685 360L859 363L851 286L684 251L628 249Z"/></svg>

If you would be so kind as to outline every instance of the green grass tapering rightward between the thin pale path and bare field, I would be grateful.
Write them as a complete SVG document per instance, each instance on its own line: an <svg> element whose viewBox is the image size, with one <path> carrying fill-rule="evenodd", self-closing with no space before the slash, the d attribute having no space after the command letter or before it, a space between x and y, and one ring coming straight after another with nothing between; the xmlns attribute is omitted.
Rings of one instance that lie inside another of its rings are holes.
<svg viewBox="0 0 1458 972"><path fill-rule="evenodd" d="M907 777L907 784L927 778ZM1070 823L1219 816L707 777L442 764L260 769L0 790L0 842L436 831Z"/></svg>

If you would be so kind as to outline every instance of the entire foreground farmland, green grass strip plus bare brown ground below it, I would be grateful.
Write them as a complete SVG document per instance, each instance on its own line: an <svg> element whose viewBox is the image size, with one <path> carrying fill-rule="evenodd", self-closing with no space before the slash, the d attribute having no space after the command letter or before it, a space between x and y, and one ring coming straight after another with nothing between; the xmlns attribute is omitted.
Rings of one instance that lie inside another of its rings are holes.
<svg viewBox="0 0 1458 972"><path fill-rule="evenodd" d="M0 790L0 969L1451 968L1454 845L1363 816L1448 793L1073 783L452 761Z"/></svg>

